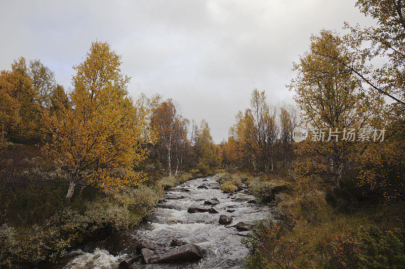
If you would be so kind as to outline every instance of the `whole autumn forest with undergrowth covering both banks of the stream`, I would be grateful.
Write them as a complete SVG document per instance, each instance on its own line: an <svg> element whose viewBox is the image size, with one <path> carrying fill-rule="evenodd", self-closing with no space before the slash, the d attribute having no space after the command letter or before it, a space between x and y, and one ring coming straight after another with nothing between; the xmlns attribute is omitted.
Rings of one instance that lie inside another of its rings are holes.
<svg viewBox="0 0 405 269"><path fill-rule="evenodd" d="M404 268L405 8L356 7L377 26L313 34L286 85L295 102L246 89L220 144L176 100L131 96L108 42L91 43L69 89L40 60L14 60L0 73L0 268L58 264L213 176L268 206L241 238L248 268Z"/></svg>

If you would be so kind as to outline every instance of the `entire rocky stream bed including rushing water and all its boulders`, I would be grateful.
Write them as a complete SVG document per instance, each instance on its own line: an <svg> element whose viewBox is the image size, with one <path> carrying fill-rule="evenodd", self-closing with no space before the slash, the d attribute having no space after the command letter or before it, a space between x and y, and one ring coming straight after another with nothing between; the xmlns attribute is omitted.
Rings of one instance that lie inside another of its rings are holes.
<svg viewBox="0 0 405 269"><path fill-rule="evenodd" d="M228 194L215 176L194 179L167 190L136 229L91 242L52 268L242 268L240 239L268 214L246 188Z"/></svg>

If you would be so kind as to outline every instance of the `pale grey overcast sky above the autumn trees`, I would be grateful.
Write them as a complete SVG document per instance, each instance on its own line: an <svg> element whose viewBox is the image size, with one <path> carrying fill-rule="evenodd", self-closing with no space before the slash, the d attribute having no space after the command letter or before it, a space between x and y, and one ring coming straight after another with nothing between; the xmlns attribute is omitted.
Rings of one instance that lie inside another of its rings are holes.
<svg viewBox="0 0 405 269"><path fill-rule="evenodd" d="M215 142L228 135L250 93L292 102L292 62L311 33L342 32L343 22L371 25L354 0L263 1L2 1L0 69L39 59L58 83L71 86L72 66L90 43L108 41L144 92L176 99L183 115L206 119Z"/></svg>

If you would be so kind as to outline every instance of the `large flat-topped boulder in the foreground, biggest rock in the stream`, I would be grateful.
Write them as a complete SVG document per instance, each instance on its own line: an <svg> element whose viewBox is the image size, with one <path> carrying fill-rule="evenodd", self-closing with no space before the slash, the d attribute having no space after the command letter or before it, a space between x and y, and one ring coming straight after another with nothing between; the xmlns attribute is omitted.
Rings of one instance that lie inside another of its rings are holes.
<svg viewBox="0 0 405 269"><path fill-rule="evenodd" d="M203 258L203 251L194 243L170 249L163 254L149 258L149 263L196 261Z"/></svg>

